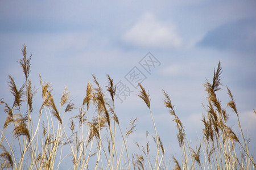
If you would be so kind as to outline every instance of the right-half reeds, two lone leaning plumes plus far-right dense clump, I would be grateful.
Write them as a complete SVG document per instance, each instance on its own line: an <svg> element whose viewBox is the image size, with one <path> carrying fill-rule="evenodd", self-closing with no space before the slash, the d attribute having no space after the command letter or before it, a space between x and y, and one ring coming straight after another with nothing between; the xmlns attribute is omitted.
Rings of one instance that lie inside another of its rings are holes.
<svg viewBox="0 0 256 170"><path fill-rule="evenodd" d="M254 158L249 153L248 141L246 141L245 135L243 134L242 127L240 124L239 114L236 108L236 103L234 97L228 87L228 95L230 101L227 107L231 108L234 114L237 116L238 127L240 129L241 139L236 133L228 126L227 121L229 118L229 113L226 109L222 107L221 101L217 99L216 92L221 90L220 86L220 75L222 73L222 68L220 62L218 63L217 70L214 70L213 82L205 82L204 87L207 91L208 105L205 108L206 114L203 115L202 121L204 123L203 129L203 139L201 140L199 146L196 146L195 150L190 146L188 139L185 134L185 129L181 123L180 118L177 116L174 105L171 103L170 96L163 90L164 105L169 109L171 116L174 117L173 121L177 127L177 140L179 142L181 150L181 165L178 160L172 156L174 162L174 169L255 169L256 165L254 163ZM156 133L156 127L154 118L150 110L150 98L148 93L141 87L141 93L139 97L146 103L152 118L152 122L155 129L155 141L156 141L156 157L155 165L152 166L151 163L146 165L144 162L143 155L135 155L134 166L138 169L167 169L167 165L164 160L162 160L164 155L164 148L160 138ZM255 112L255 110L254 110ZM255 112L256 113L256 112ZM138 144L137 144L138 145ZM139 147L139 145L138 145ZM160 156L160 150L162 148L162 156ZM148 156L148 142L146 147L142 148L142 152L150 162ZM203 151L203 161L200 155ZM159 157L160 156L160 157Z"/></svg>

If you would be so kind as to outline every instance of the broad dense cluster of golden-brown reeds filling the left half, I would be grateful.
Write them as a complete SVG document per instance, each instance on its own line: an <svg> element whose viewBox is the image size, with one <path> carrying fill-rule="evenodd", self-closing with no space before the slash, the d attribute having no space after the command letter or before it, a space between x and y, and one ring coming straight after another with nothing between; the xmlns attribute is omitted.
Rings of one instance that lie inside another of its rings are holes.
<svg viewBox="0 0 256 170"><path fill-rule="evenodd" d="M65 159L70 158L73 169L130 169L126 142L135 130L137 118L130 121L123 133L114 109L113 79L107 76L112 105L105 101L104 91L93 76L96 87L88 82L84 100L76 109L67 87L60 103L56 103L51 83L43 82L39 74L43 102L39 111L34 111L32 101L36 90L31 85L31 56L27 58L26 45L22 52L23 58L18 62L23 68L25 82L18 88L14 78L9 76L14 103L10 106L1 100L7 117L1 130L0 169L58 169ZM66 121L66 114L76 111L78 114L69 114ZM38 119L32 120L32 114L37 114ZM13 139L7 135L10 129L13 129ZM115 147L117 131L123 141L118 151Z"/></svg>

